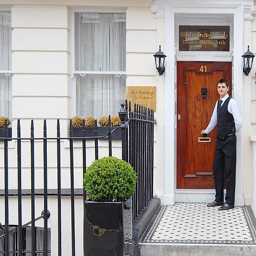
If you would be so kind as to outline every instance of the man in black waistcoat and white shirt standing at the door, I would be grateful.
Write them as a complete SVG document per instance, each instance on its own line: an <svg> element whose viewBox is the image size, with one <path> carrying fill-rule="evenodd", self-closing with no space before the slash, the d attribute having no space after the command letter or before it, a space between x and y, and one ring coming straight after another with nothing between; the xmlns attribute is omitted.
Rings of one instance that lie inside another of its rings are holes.
<svg viewBox="0 0 256 256"><path fill-rule="evenodd" d="M241 129L242 117L237 102L229 97L228 81L221 79L217 85L220 100L216 102L212 118L202 135L210 133L217 125L217 143L213 161L213 177L215 184L215 200L207 204L208 207L216 207L219 210L234 208L236 188L236 132ZM226 170L226 196L224 203L224 167Z"/></svg>

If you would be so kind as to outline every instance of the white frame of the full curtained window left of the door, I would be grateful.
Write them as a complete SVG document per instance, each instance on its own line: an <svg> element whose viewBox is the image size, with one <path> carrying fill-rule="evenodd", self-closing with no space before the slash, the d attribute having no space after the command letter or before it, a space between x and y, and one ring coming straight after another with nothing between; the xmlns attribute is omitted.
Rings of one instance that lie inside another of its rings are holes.
<svg viewBox="0 0 256 256"><path fill-rule="evenodd" d="M76 75L116 75L126 76L126 71L76 71L75 70L75 13L125 13L126 9L72 9L71 10L71 115L76 115Z"/></svg>

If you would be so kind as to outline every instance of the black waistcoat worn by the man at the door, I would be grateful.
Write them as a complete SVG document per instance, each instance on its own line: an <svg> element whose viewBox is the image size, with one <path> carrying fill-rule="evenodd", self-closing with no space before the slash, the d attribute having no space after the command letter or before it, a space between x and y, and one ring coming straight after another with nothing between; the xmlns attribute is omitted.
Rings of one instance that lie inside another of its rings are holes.
<svg viewBox="0 0 256 256"><path fill-rule="evenodd" d="M228 112L228 104L231 97L228 97L221 108L217 106L217 134L224 137L236 133L234 117Z"/></svg>

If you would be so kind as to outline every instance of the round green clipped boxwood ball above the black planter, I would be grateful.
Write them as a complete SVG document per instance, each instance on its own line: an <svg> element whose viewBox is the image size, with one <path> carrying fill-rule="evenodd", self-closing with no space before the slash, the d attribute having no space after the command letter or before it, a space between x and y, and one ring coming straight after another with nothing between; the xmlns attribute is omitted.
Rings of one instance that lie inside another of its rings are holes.
<svg viewBox="0 0 256 256"><path fill-rule="evenodd" d="M125 201L135 191L136 173L124 160L113 156L95 160L84 175L89 200Z"/></svg>

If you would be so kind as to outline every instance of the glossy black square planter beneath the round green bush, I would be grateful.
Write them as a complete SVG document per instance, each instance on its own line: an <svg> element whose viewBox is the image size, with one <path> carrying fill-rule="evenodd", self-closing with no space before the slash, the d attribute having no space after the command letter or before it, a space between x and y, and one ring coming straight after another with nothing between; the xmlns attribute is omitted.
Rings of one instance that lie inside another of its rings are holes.
<svg viewBox="0 0 256 256"><path fill-rule="evenodd" d="M123 255L123 203L85 201L85 256Z"/></svg>

